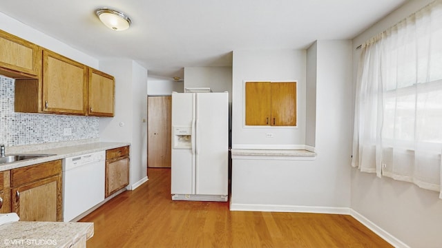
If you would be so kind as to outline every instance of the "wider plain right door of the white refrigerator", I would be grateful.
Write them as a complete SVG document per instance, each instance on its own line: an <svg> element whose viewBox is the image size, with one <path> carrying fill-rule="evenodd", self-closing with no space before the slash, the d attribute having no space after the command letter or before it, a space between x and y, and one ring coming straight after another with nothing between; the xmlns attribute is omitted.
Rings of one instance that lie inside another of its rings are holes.
<svg viewBox="0 0 442 248"><path fill-rule="evenodd" d="M229 94L196 93L195 194L227 195Z"/></svg>

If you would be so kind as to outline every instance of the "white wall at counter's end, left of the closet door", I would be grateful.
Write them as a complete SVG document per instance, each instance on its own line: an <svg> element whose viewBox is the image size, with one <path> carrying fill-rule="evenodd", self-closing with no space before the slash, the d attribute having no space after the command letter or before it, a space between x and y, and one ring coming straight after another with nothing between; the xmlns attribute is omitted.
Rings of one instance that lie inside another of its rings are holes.
<svg viewBox="0 0 442 248"><path fill-rule="evenodd" d="M147 175L147 70L128 59L100 61L99 70L115 76L115 116L99 119L100 141L131 143L133 185Z"/></svg>

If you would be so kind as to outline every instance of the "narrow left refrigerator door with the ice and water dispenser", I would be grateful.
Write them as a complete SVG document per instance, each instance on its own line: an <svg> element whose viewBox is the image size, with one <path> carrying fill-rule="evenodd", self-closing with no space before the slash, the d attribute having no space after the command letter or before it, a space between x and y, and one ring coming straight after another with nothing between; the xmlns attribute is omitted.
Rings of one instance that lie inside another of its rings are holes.
<svg viewBox="0 0 442 248"><path fill-rule="evenodd" d="M172 94L172 128L191 128L191 149L172 147L171 194L195 194L195 94Z"/></svg>

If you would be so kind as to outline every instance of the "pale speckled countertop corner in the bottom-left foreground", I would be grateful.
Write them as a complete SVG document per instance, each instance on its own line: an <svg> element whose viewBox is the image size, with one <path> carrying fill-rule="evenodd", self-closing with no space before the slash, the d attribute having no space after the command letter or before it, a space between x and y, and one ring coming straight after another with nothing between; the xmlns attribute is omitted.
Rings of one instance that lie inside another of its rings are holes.
<svg viewBox="0 0 442 248"><path fill-rule="evenodd" d="M17 221L0 225L0 247L86 247L94 223Z"/></svg>

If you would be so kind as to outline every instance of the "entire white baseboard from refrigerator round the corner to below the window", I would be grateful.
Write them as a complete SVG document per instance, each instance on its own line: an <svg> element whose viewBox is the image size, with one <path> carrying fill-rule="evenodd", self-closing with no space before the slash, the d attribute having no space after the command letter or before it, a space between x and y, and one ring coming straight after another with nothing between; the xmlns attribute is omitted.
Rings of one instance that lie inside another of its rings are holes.
<svg viewBox="0 0 442 248"><path fill-rule="evenodd" d="M313 214L347 214L358 220L362 225L372 230L375 234L389 242L396 248L410 248L398 238L392 236L372 221L359 214L349 207L310 207L294 205L260 205L260 204L239 204L230 203L231 211L276 211L276 212L294 212L294 213L313 213Z"/></svg>

